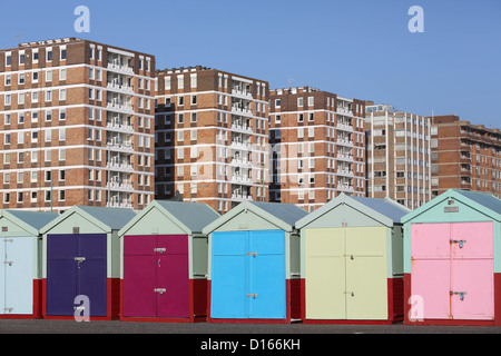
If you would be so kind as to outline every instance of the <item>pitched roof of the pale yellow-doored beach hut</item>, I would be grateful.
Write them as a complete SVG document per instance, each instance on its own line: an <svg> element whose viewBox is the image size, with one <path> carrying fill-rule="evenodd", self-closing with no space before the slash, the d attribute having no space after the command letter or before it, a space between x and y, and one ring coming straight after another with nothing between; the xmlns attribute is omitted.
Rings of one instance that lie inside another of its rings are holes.
<svg viewBox="0 0 501 356"><path fill-rule="evenodd" d="M351 206L352 208L386 226L392 226L394 222L400 222L401 218L411 211L390 198L382 199L353 197L342 192L336 198L323 205L321 208L310 212L306 217L296 221L296 227L302 228L343 204Z"/></svg>

